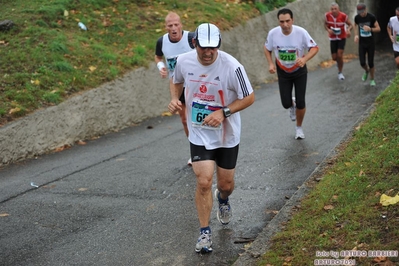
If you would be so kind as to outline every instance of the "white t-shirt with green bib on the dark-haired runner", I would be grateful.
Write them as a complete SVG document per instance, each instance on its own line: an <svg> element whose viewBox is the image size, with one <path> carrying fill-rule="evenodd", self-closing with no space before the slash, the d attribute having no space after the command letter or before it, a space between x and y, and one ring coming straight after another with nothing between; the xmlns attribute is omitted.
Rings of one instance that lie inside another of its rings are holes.
<svg viewBox="0 0 399 266"><path fill-rule="evenodd" d="M269 51L274 50L278 66L287 73L299 69L295 61L303 57L312 47L317 47L316 42L302 27L292 25L289 35L284 35L281 27L275 27L267 35L265 47Z"/></svg>

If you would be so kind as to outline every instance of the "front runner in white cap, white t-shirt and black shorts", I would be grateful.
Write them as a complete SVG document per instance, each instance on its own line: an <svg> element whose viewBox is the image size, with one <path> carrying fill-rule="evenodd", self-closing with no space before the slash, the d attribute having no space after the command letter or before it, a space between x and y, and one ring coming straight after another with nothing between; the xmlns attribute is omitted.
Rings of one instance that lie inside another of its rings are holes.
<svg viewBox="0 0 399 266"><path fill-rule="evenodd" d="M217 218L230 221L229 196L234 190L234 172L241 134L239 111L250 106L254 92L244 67L231 55L220 51L219 29L209 23L198 26L195 51L177 59L175 89L169 110L181 109L179 95L185 83L187 121L193 170L197 176L195 202L200 223L196 252L212 251L209 220L213 205L212 180L216 164L219 202Z"/></svg>

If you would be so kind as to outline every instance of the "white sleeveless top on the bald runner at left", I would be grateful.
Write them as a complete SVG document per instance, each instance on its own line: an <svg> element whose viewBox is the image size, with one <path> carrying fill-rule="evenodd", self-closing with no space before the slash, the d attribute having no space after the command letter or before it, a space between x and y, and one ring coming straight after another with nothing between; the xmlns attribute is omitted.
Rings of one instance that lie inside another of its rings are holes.
<svg viewBox="0 0 399 266"><path fill-rule="evenodd" d="M180 41L174 43L169 40L168 33L163 35L162 52L165 56L166 67L169 69L169 78L173 76L175 70L176 60L180 54L193 50L188 41L188 31L183 31L183 36Z"/></svg>

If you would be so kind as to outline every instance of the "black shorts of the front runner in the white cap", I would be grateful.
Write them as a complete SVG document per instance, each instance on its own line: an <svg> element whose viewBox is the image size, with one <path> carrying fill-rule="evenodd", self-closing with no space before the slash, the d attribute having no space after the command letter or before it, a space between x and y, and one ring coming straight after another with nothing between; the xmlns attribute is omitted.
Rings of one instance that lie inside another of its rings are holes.
<svg viewBox="0 0 399 266"><path fill-rule="evenodd" d="M190 143L191 159L193 162L212 160L221 168L234 169L237 164L238 146L207 150L205 146Z"/></svg>

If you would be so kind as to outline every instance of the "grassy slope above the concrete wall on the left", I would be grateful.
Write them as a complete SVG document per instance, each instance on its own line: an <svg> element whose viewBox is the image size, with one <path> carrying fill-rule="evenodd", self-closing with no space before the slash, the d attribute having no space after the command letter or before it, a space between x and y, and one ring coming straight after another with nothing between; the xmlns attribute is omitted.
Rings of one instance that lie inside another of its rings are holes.
<svg viewBox="0 0 399 266"><path fill-rule="evenodd" d="M2 1L0 21L15 26L0 31L0 126L148 66L169 11L186 30L202 22L227 30L287 2Z"/></svg>

